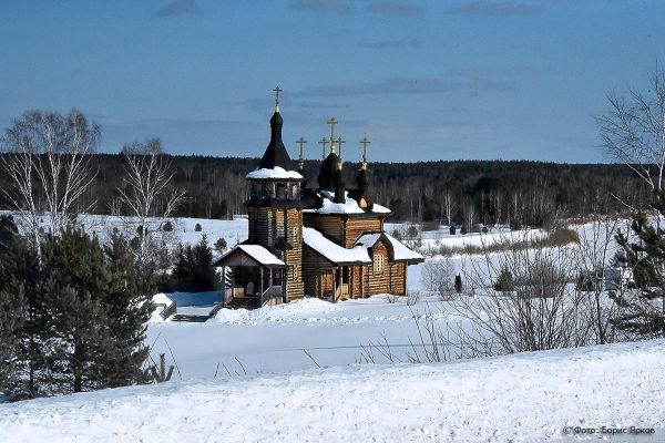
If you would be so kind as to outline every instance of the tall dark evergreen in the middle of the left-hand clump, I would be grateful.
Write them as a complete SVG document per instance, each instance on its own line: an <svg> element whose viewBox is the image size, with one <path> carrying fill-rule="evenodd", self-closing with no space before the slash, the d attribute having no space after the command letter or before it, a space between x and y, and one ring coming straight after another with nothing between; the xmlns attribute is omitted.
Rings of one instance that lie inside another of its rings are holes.
<svg viewBox="0 0 665 443"><path fill-rule="evenodd" d="M52 391L105 388L114 343L104 303L111 276L103 250L96 238L68 226L60 237L47 237L42 253L44 297L52 316Z"/></svg>

